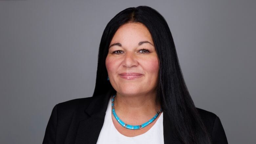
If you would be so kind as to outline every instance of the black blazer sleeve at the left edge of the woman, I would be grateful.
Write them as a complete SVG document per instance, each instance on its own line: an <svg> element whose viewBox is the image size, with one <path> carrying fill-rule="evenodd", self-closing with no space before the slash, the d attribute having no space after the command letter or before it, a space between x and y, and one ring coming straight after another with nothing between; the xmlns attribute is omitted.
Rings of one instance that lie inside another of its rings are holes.
<svg viewBox="0 0 256 144"><path fill-rule="evenodd" d="M53 107L52 114L48 121L43 144L55 144L56 141L56 130L57 130L57 105Z"/></svg>

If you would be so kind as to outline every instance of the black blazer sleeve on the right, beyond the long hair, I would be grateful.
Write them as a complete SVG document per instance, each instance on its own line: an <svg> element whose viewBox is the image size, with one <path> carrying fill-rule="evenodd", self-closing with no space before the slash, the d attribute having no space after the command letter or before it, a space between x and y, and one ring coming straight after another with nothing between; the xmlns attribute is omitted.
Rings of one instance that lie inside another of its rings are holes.
<svg viewBox="0 0 256 144"><path fill-rule="evenodd" d="M212 142L213 144L228 144L226 134L218 116L216 116L212 128Z"/></svg>

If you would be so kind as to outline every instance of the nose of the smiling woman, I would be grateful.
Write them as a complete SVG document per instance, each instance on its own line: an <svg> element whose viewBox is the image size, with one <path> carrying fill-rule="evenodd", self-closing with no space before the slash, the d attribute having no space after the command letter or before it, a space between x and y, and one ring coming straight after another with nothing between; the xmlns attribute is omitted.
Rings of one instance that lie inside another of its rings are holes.
<svg viewBox="0 0 256 144"><path fill-rule="evenodd" d="M127 67L127 68L137 67L138 61L136 59L135 53L126 52L122 65L123 65L123 67Z"/></svg>

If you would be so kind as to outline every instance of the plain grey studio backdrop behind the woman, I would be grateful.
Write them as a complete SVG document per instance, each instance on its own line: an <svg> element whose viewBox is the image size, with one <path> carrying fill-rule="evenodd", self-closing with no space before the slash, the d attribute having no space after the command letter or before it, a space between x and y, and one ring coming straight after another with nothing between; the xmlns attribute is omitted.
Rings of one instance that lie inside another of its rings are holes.
<svg viewBox="0 0 256 144"><path fill-rule="evenodd" d="M55 104L92 96L106 24L139 5L168 22L196 107L230 144L256 143L253 0L0 0L0 143L42 143Z"/></svg>

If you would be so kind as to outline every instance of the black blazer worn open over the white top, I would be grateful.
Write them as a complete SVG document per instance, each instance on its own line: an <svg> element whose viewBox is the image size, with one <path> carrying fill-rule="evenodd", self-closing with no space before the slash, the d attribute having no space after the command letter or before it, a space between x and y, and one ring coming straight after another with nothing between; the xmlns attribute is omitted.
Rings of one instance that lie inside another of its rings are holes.
<svg viewBox="0 0 256 144"><path fill-rule="evenodd" d="M104 123L111 93L73 99L54 106L46 127L43 144L96 144ZM104 97L102 99L102 97ZM219 117L197 108L213 144L227 144L227 138ZM163 115L164 143L175 143L168 130L170 124Z"/></svg>

